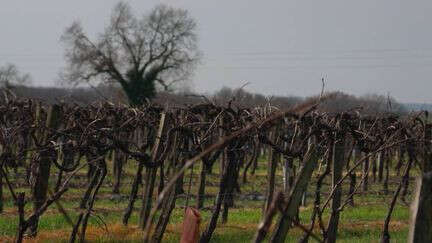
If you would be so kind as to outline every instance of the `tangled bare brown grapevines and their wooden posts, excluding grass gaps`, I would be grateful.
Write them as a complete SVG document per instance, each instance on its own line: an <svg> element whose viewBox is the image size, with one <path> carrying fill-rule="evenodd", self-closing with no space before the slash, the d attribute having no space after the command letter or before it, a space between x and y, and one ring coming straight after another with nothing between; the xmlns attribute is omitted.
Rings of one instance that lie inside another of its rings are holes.
<svg viewBox="0 0 432 243"><path fill-rule="evenodd" d="M432 124L424 114L361 116L354 111L332 114L316 108L313 102L279 111L211 103L132 109L109 103L48 106L34 100L7 100L0 105L0 182L10 192L18 212L15 241L22 242L25 235L35 236L40 217L56 204L71 224L70 242L84 242L89 219L96 216L103 221L94 207L102 186L108 183L107 175L112 173L114 194L121 187L129 187L123 224L129 223L138 207L143 241L161 242L173 209L184 205L176 203L183 194L187 194L187 205L195 197L194 206L204 208L208 175L218 166L218 191L200 238L209 242L218 219L229 221L230 208L242 195L242 186L255 173L258 157L263 155L268 156L267 194L254 242L266 237L284 242L293 227L303 232L301 242L309 238L335 242L340 215L346 207L356 205L360 190L366 192L371 183L382 183L381 193L391 194L389 174L394 158L395 173L401 176L383 219L382 242L390 241L391 215L397 199L406 200L413 169L420 170L421 183L410 237L413 241L426 240L421 237L427 236L431 228L431 222L425 219L430 199L424 193L431 186ZM112 171L108 166L111 160ZM136 163L130 185L122 184L126 163ZM201 170L185 177L196 163L201 164ZM285 181L283 188L278 188L276 171L281 163ZM68 195L69 188L76 187L83 170L87 172L87 181L82 184L85 190L78 215L72 219L61 206L61 199ZM25 176L17 176L18 172L25 172ZM195 176L196 195L190 195L193 190L184 190L183 178L189 178L192 184ZM49 179L53 183L48 183ZM326 193L324 181L330 183ZM342 190L345 184L348 192ZM312 186L311 218L307 223L300 222L299 207L306 205ZM31 195L19 192L21 187L31 189ZM5 199L0 196L3 205ZM24 210L29 202L33 204L31 213ZM328 222L323 219L326 211Z"/></svg>

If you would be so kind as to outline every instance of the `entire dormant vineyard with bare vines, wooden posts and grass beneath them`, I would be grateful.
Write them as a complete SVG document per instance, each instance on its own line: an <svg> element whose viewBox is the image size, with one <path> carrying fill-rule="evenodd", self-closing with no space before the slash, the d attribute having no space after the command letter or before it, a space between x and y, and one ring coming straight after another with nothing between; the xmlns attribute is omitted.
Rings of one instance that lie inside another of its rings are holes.
<svg viewBox="0 0 432 243"><path fill-rule="evenodd" d="M5 99L0 241L432 242L428 114L330 113L325 99Z"/></svg>

